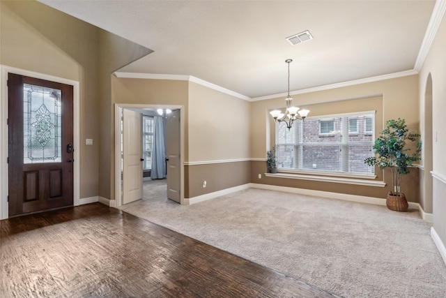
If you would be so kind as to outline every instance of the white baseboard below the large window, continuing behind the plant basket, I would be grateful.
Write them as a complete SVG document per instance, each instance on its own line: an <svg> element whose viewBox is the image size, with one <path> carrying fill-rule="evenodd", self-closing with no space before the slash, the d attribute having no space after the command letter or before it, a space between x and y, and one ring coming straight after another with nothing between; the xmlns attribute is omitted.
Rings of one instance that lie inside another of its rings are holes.
<svg viewBox="0 0 446 298"><path fill-rule="evenodd" d="M312 189L305 189L305 188L293 188L293 187L275 186L269 184L255 184L255 183L249 184L249 187L266 189L270 191L284 191L285 193L298 193L300 195L314 195L316 197L321 197L321 198L329 198L329 199L385 206L385 199L365 197L363 195L348 195L345 193L330 193L328 191L314 191ZM433 214L424 212L420 204L415 202L408 202L408 203L409 203L409 209L418 210L420 212L420 216L424 221L428 223L433 222Z"/></svg>

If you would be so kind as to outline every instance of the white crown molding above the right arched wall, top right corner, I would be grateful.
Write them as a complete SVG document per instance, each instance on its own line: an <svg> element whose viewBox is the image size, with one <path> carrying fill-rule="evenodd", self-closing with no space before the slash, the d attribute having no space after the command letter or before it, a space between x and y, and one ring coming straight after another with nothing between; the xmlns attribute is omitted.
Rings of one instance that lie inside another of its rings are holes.
<svg viewBox="0 0 446 298"><path fill-rule="evenodd" d="M433 6L433 11L431 15L431 20L427 25L426 33L424 34L423 42L420 47L420 52L418 52L417 61L415 61L414 69L419 72L424 64L429 49L433 43L433 38L435 38L438 27L440 26L441 20L443 20L443 15L446 10L446 1L437 0L435 6Z"/></svg>

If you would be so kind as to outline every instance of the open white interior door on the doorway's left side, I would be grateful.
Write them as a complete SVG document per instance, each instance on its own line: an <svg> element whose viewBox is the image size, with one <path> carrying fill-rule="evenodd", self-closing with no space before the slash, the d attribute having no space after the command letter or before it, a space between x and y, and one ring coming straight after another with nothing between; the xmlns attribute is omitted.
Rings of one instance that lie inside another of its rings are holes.
<svg viewBox="0 0 446 298"><path fill-rule="evenodd" d="M123 204L142 198L142 116L123 109Z"/></svg>

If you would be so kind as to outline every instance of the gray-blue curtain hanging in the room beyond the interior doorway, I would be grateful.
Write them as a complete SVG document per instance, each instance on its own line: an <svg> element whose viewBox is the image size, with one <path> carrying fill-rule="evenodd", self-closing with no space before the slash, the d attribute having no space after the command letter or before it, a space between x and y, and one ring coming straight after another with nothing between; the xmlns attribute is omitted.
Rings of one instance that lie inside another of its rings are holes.
<svg viewBox="0 0 446 298"><path fill-rule="evenodd" d="M152 148L151 179L163 179L166 177L166 154L164 148L164 124L162 117L153 117L154 133Z"/></svg>

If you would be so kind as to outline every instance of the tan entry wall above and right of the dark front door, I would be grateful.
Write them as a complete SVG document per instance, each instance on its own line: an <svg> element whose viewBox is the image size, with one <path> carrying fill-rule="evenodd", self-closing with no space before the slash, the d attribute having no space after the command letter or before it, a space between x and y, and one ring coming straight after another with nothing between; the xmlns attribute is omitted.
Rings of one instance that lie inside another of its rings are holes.
<svg viewBox="0 0 446 298"><path fill-rule="evenodd" d="M80 198L110 198L111 73L151 50L37 1L0 1L0 13L1 64L79 82Z"/></svg>

